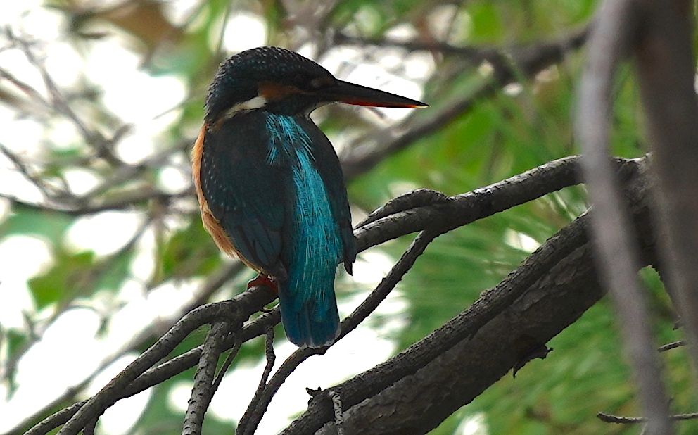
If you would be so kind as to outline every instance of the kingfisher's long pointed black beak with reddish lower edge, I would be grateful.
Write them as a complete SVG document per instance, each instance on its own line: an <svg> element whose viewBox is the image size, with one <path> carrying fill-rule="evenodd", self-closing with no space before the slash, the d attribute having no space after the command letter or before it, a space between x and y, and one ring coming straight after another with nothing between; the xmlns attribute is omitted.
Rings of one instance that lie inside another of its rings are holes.
<svg viewBox="0 0 698 435"><path fill-rule="evenodd" d="M361 86L343 80L337 80L336 85L322 90L324 101L338 101L339 103L356 104L357 106L373 107L428 107L421 101L405 98L379 91L372 87Z"/></svg>

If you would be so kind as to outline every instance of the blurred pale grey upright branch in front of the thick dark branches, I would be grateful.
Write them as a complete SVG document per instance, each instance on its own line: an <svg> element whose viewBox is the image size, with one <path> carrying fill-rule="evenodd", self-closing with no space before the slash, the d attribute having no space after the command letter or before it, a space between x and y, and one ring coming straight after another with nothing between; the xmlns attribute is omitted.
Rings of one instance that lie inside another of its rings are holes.
<svg viewBox="0 0 698 435"><path fill-rule="evenodd" d="M576 120L576 134L584 150L585 182L595 209L592 234L599 271L618 310L623 347L638 384L643 412L648 419L648 433L668 435L672 432L669 405L656 345L647 322L642 284L637 276L640 264L637 244L631 235L630 221L609 158L614 76L638 30L640 17L633 1L608 0L596 18L578 89Z"/></svg>

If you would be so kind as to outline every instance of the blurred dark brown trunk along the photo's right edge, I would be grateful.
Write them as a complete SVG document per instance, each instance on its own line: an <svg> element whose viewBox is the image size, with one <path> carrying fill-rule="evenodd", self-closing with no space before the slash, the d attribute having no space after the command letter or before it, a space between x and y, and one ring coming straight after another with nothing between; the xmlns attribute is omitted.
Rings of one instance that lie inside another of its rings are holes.
<svg viewBox="0 0 698 435"><path fill-rule="evenodd" d="M637 4L642 30L637 34L635 62L647 120L656 201L661 217L668 289L698 369L698 97L695 92L694 4L691 1L647 1ZM696 379L694 378L694 382Z"/></svg>

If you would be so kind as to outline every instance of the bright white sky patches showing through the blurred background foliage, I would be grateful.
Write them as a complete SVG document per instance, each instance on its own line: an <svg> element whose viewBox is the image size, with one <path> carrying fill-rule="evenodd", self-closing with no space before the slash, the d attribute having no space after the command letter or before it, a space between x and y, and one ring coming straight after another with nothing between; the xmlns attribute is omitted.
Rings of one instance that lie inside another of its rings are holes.
<svg viewBox="0 0 698 435"><path fill-rule="evenodd" d="M107 1L105 1L107 3ZM115 3L110 1L109 3ZM91 44L87 56L82 57L63 42L61 29L66 23L63 16L48 8L40 7L39 0L0 2L0 20L13 26L21 25L25 32L49 42L46 49L46 65L59 86L70 86L84 74L99 84L103 90L103 101L108 108L125 122L132 122L134 129L120 142L118 154L130 163L143 160L158 150L158 139L163 130L179 115L176 108L186 98L187 89L177 76L153 77L139 70L141 61L137 54L129 51L119 37L107 37ZM168 3L172 20L181 20L186 11L195 6L193 0L174 0ZM409 36L409 27L393 30L395 37ZM246 35L245 38L239 37ZM224 49L234 53L243 49L265 44L265 25L250 13L238 13L229 20L224 32ZM310 56L310 47L301 53ZM379 87L415 99L421 96L419 83L433 73L434 65L427 55L415 53L404 56L399 51L386 49L381 53L379 65L356 65L343 75L345 80L367 86ZM335 49L323 61L324 66L337 73L347 63L362 60L357 49ZM43 89L41 77L27 63L23 55L15 50L0 52L0 65L11 70L23 80ZM395 65L403 65L404 77L395 77L386 71ZM407 115L405 109L381 109L388 121ZM165 115L162 115L165 113ZM0 106L0 143L26 158L42 155L42 138L49 136L58 146L69 146L80 141L74 125L68 121L39 123L34 120L15 119L13 111ZM193 136L193 134L192 134ZM338 144L341 138L332 138ZM182 168L184 161L167 163L160 184L169 191L186 189L189 185L187 172ZM89 170L75 168L67 175L68 183L75 193L89 191L99 176ZM402 193L413 186L395 187ZM37 189L18 174L11 163L0 156L0 191L26 201L40 201ZM0 200L0 222L8 215L6 202ZM70 228L65 237L66 246L75 251L94 250L104 256L121 248L143 224L144 217L134 212L106 212L80 219ZM516 242L516 241L514 241ZM514 243L512 242L512 243ZM520 241L519 241L520 242ZM516 243L519 243L516 242ZM98 391L119 370L137 355L122 356L111 361L118 348L125 346L146 325L178 316L179 308L193 298L201 279L167 282L158 289L145 291L144 282L153 271L153 234L149 230L142 237L138 249L138 260L132 265L133 279L125 283L116 296L97 294L95 308L76 308L61 315L46 330L42 341L33 346L20 360L16 381L18 391L6 400L7 386L0 384L0 433L14 427L32 411L60 396L70 386L80 384L87 374L98 367L106 368L91 382L88 394ZM0 234L0 324L3 327L23 327L23 310L34 313L36 308L27 289L27 279L40 275L51 267L49 244L40 237L31 235L3 237ZM357 282L375 284L390 269L393 259L379 250L362 254L355 265ZM368 285L367 285L368 288ZM341 315L347 315L362 300L358 294L352 301L341 305ZM380 314L400 313L407 308L400 291L393 291L388 300L381 304ZM97 336L99 313L114 313L106 334ZM51 315L51 308L41 313ZM383 329L370 329L365 325L349 334L322 357L313 357L294 372L281 388L262 420L260 434L271 434L285 427L291 415L305 409L306 386L327 387L351 377L380 363L390 356L395 346L386 337L402 328L400 316L393 315ZM277 366L283 362L295 346L280 343ZM0 352L6 352L0 348ZM1 355L1 353L0 353ZM76 355L80 355L76 358ZM50 361L50 364L46 364ZM249 399L253 396L264 362L231 372L224 379L212 401L210 412L220 419L233 419L242 415ZM50 370L46 370L49 367ZM310 382L310 385L309 385ZM183 382L170 395L168 405L183 412L189 398L191 382ZM110 408L100 420L99 430L103 434L125 434L139 416L148 400L148 392L134 396ZM464 420L460 434L472 434L482 429L482 417Z"/></svg>

